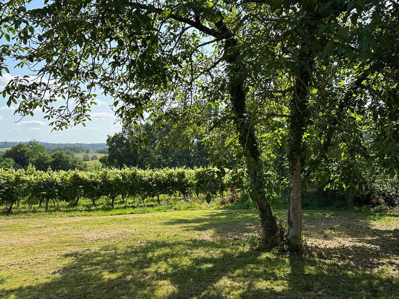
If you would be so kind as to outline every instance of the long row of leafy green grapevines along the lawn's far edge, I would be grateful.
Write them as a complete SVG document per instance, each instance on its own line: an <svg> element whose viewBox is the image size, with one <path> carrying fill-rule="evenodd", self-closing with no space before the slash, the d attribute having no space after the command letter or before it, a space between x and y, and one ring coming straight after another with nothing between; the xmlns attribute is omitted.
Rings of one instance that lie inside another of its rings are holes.
<svg viewBox="0 0 399 299"><path fill-rule="evenodd" d="M223 171L222 171L223 172ZM45 202L65 201L76 205L80 198L96 200L101 196L114 199L122 196L157 197L161 194L182 194L185 198L194 193L207 191L216 194L232 186L232 179L220 170L215 169L187 169L164 168L143 170L139 168L102 168L97 172L69 170L69 171L39 171L33 166L27 169L0 168L0 205L7 212L12 211L16 202L25 202L31 207L33 204ZM208 201L210 195L206 196Z"/></svg>

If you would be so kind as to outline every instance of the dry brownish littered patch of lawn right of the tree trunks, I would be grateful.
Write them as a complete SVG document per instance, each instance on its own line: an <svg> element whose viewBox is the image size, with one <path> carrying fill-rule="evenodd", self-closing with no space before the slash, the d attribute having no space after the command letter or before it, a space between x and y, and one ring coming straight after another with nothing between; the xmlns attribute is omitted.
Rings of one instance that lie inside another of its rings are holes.
<svg viewBox="0 0 399 299"><path fill-rule="evenodd" d="M386 222L351 217L319 217L305 222L308 253L332 259L337 265L356 266L363 271L399 274L398 231L394 219Z"/></svg>

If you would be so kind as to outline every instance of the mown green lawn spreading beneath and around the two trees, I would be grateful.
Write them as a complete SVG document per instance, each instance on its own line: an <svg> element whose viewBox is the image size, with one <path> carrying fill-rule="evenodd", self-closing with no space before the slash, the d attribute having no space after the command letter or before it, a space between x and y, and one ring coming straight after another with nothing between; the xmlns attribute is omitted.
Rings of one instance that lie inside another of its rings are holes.
<svg viewBox="0 0 399 299"><path fill-rule="evenodd" d="M252 248L258 228L239 209L2 216L0 298L399 298L398 215L305 211L302 255Z"/></svg>

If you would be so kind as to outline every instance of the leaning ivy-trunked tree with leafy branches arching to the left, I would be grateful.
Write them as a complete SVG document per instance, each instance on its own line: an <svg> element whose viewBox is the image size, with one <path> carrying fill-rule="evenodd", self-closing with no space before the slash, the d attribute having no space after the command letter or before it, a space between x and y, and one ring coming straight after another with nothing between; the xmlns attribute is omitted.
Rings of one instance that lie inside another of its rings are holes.
<svg viewBox="0 0 399 299"><path fill-rule="evenodd" d="M215 88L221 90L219 83L227 83L226 93L221 92L227 100L223 102L231 108L231 117L246 159L251 194L259 210L265 241L269 247L273 247L277 244L279 228L266 200L260 151L246 107L246 77L243 75L245 43L239 42L240 29L248 19L248 16L242 15L245 7L237 7L239 13L234 9L233 13L226 14L224 11L232 11L233 8L229 4L221 4L222 6L218 7L208 1L189 2L186 5L177 2L178 7L183 9L177 9L175 4L174 1L168 1L163 3L162 7L156 7L146 2L79 1L62 5L60 1L54 1L45 4L44 8L26 11L24 6L20 5L20 1L8 2L6 9L10 9L7 13L9 16L3 21L19 25L20 42L14 48L15 52L7 46L3 47L3 52L11 51L16 54L16 59L27 62L35 61L39 57L40 60L48 61L38 71L39 78L40 74L46 74L55 81L50 85L44 82L25 84L27 79L18 78L5 87L4 95L8 94L8 104L23 95L25 100L19 105L26 108L19 110L23 115L33 113L40 105L48 114L48 119L55 116L51 125L59 129L71 122L74 125L84 122L90 106L94 103L94 87L99 86L106 95L114 98L114 106L117 107L120 117L128 122L136 122L137 117L143 117L145 109L165 111L165 96L169 97L171 94L178 102L189 100L195 103L197 93L205 96L210 104L215 102L213 96L207 97L201 87L203 83L196 84L197 86L193 84L197 80L194 74L198 78L204 73L208 75L212 65L217 66L218 62L223 61L225 64L222 72L227 80L219 77ZM73 15L76 19L86 12L90 13L80 21L48 21L51 15ZM26 19L24 20L20 14L24 14ZM121 19L124 21L121 22ZM8 23L4 24L9 26ZM40 33L35 31L37 26L41 27ZM191 33L192 39L188 39L189 35L186 32L189 27L197 30ZM55 35L57 45L52 38ZM204 43L204 39L209 37L212 40ZM19 49L25 40L37 40L40 46L29 50L28 55L24 53L26 58L23 58ZM110 47L113 43L115 47ZM209 59L207 62L207 59L204 59L206 57L201 56L201 52L196 53L196 50L210 43L215 43L216 50L213 54L219 58ZM60 51L57 54L59 59L53 59L50 54L54 48ZM195 69L191 57L195 57ZM105 64L109 67L103 67ZM187 73L190 66L193 67L190 73ZM115 73L119 76L115 76ZM72 82L74 83L71 84ZM14 90L11 86L15 85L18 88ZM86 92L82 89L85 85ZM126 89L121 89L121 85L126 86ZM68 97L74 98L77 105L68 110L65 106L54 108L51 103L55 95L65 93L65 86L68 86ZM182 89L188 90L190 99L181 93ZM212 88L209 90L213 91ZM45 92L49 94L48 97L41 96ZM29 97L26 97L25 93L29 94ZM153 94L157 94L161 101L154 101ZM119 103L121 105L118 105ZM172 104L171 107L173 106ZM193 108L196 106L198 105L193 105Z"/></svg>

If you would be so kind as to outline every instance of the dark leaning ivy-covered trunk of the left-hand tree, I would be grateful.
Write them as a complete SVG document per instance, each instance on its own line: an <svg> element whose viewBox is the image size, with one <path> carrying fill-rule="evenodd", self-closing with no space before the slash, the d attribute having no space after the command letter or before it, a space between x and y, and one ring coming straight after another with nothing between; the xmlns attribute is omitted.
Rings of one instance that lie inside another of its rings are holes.
<svg viewBox="0 0 399 299"><path fill-rule="evenodd" d="M229 69L229 94L232 110L234 112L234 123L239 134L239 143L245 153L247 172L251 179L251 191L259 210L260 221L263 229L263 243L273 248L278 243L280 229L276 217L273 215L271 206L265 197L265 181L263 178L263 167L259 145L255 137L251 119L246 110L244 81L245 74L242 64L237 63L239 51L236 49L237 41L229 38L225 42L225 53Z"/></svg>

